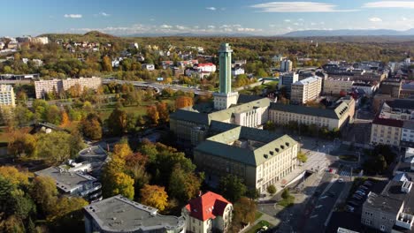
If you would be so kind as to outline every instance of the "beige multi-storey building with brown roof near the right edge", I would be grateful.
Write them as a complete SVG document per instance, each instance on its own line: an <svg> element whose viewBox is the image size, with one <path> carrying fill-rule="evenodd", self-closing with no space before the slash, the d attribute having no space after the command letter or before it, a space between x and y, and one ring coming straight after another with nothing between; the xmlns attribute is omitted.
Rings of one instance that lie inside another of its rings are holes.
<svg viewBox="0 0 414 233"><path fill-rule="evenodd" d="M371 144L384 144L399 147L402 128L402 120L380 118L380 116L376 116L372 121Z"/></svg>

